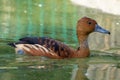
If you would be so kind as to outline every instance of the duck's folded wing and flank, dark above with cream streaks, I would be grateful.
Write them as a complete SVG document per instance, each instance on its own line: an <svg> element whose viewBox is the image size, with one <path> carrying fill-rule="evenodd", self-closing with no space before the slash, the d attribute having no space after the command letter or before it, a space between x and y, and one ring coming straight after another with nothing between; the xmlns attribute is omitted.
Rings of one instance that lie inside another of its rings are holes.
<svg viewBox="0 0 120 80"><path fill-rule="evenodd" d="M74 49L64 43L48 37L24 37L9 45L16 48L22 45L22 49L28 54L50 58L67 58L74 52Z"/></svg>

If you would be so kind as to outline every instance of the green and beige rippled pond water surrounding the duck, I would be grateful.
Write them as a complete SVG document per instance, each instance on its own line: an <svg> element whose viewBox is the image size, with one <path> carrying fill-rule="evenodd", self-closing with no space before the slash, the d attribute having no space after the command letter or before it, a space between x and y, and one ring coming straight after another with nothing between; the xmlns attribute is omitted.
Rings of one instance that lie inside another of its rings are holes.
<svg viewBox="0 0 120 80"><path fill-rule="evenodd" d="M71 0L0 0L0 4L0 80L120 79L119 15L76 5ZM24 36L47 36L76 48L76 23L84 16L111 32L110 36L90 35L89 58L57 60L16 55L6 45Z"/></svg>

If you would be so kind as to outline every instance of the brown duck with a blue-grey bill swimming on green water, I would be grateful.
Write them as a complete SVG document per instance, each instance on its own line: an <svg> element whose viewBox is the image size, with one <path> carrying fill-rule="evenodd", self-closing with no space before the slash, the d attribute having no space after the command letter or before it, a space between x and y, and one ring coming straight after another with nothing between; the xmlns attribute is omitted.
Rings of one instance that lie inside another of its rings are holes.
<svg viewBox="0 0 120 80"><path fill-rule="evenodd" d="M8 45L14 47L18 54L43 56L52 59L85 58L90 56L88 36L93 32L110 34L110 31L102 28L94 19L83 17L77 21L76 26L79 43L77 49L49 37L23 37L18 42L10 42Z"/></svg>

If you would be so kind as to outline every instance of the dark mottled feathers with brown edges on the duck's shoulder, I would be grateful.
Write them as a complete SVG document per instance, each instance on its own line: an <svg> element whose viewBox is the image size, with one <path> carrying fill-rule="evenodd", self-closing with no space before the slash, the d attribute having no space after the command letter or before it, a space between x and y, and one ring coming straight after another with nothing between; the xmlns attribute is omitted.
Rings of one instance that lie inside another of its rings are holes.
<svg viewBox="0 0 120 80"><path fill-rule="evenodd" d="M40 45L44 45L47 49L52 50L55 54L61 57L69 57L72 54L72 49L60 41L51 38L39 38Z"/></svg>

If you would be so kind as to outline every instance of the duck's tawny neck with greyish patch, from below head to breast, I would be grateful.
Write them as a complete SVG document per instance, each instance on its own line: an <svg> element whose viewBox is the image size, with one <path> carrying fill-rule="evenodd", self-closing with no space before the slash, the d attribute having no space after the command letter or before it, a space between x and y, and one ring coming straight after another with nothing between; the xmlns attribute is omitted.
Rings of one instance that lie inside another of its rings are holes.
<svg viewBox="0 0 120 80"><path fill-rule="evenodd" d="M90 55L89 46L88 46L88 35L79 35L79 48L76 50L78 57L87 57Z"/></svg>

